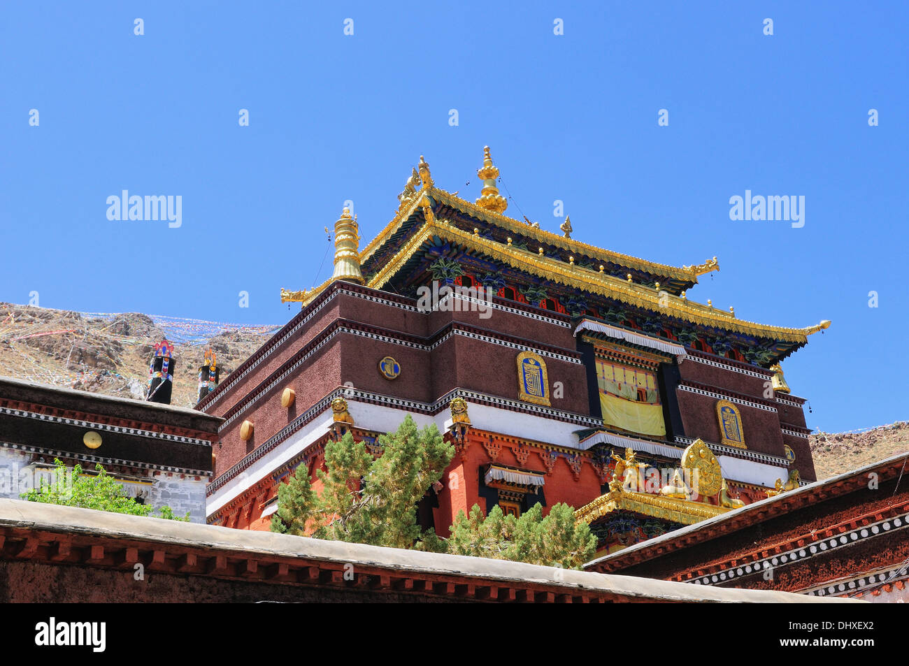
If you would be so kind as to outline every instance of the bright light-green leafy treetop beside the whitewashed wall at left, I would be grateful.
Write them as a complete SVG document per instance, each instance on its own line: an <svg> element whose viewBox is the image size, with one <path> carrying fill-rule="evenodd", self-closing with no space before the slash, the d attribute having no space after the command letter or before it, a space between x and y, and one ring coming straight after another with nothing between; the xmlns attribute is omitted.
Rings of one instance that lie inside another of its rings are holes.
<svg viewBox="0 0 909 666"><path fill-rule="evenodd" d="M40 487L32 488L19 496L29 502L77 506L134 516L148 516L154 511L152 506L140 504L128 497L120 482L105 472L100 463L95 464L96 474L86 474L80 464L69 470L57 459L54 460L54 465L53 482L42 479ZM155 516L156 518L189 522L189 512L183 518L175 515L169 506L161 507L160 512L161 515Z"/></svg>

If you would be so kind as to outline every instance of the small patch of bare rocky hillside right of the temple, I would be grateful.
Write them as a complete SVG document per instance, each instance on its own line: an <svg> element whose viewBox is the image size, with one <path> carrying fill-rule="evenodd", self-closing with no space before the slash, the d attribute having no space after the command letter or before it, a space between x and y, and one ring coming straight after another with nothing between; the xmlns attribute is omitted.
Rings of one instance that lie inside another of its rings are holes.
<svg viewBox="0 0 909 666"><path fill-rule="evenodd" d="M815 432L810 443L817 478L826 479L909 451L909 422L864 432Z"/></svg>

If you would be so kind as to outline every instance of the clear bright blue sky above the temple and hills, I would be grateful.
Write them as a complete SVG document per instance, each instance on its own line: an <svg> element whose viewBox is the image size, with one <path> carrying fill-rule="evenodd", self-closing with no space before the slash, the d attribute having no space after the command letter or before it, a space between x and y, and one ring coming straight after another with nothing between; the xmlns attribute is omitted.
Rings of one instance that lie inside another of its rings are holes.
<svg viewBox="0 0 909 666"><path fill-rule="evenodd" d="M557 231L562 200L586 243L716 255L693 300L832 320L784 363L809 426L903 420L909 9L791 5L4 4L0 300L284 323L345 200L365 243L420 154L473 199L489 144L514 217ZM182 225L109 221L122 190ZM804 227L730 220L745 190L804 196Z"/></svg>

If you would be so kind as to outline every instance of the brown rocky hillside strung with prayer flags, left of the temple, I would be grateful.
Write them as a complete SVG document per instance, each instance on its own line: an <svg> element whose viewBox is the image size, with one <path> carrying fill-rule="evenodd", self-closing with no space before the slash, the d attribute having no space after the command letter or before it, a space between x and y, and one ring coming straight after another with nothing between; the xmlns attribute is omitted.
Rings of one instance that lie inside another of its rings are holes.
<svg viewBox="0 0 909 666"><path fill-rule="evenodd" d="M225 379L277 328L0 303L0 374L143 400L152 349L166 336L175 343L172 404L193 407L209 346Z"/></svg>

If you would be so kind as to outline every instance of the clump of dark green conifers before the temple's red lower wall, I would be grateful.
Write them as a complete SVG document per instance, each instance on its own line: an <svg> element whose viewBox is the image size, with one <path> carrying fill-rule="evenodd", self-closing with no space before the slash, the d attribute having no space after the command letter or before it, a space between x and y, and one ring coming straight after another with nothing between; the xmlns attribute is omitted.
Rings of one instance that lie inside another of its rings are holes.
<svg viewBox="0 0 909 666"><path fill-rule="evenodd" d="M300 467L278 488L272 532L572 569L593 557L596 538L586 522L574 522L567 504L556 504L545 518L540 504L520 518L498 506L484 516L474 504L469 517L458 513L449 539L423 532L416 505L442 478L454 447L435 425L418 430L409 415L376 443L378 456L349 432L327 443L326 471L315 472L322 491L314 491L308 469Z"/></svg>

